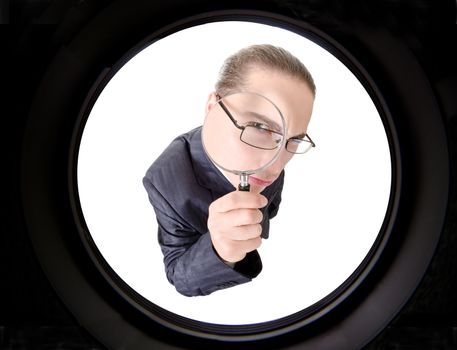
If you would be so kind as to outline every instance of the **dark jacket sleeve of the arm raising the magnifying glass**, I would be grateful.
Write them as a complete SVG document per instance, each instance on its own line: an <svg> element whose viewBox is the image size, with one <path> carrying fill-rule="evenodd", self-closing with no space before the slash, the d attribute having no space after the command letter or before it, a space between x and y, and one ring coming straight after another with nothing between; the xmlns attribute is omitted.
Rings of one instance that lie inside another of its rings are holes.
<svg viewBox="0 0 457 350"><path fill-rule="evenodd" d="M166 275L176 290L186 296L208 295L246 283L256 277L262 264L257 251L231 268L217 255L208 232L198 232L157 190L143 178L158 223L158 240L164 255Z"/></svg>

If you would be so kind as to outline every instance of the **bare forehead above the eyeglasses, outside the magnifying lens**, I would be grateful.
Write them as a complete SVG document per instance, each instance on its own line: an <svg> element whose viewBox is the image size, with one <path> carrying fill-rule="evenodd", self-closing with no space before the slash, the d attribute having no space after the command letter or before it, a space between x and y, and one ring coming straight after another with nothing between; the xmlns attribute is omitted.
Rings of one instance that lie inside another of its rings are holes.
<svg viewBox="0 0 457 350"><path fill-rule="evenodd" d="M314 96L305 81L274 69L252 67L246 73L244 89L273 101L283 114L289 134L306 132Z"/></svg>

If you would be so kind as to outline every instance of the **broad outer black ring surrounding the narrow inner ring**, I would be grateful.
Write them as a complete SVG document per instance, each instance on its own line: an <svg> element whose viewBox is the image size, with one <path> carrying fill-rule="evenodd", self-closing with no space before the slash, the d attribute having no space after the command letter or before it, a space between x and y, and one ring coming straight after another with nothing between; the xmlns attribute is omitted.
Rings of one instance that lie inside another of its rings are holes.
<svg viewBox="0 0 457 350"><path fill-rule="evenodd" d="M147 312L139 312L140 303L132 307L125 290L113 290L113 283L117 283L109 279L114 276L108 275L105 280L107 275L94 268L92 253L82 244L74 227L68 193L69 139L93 81L104 67L112 66L145 36L145 28L157 30L166 22L189 18L205 12L202 8L212 7L195 1L198 6L182 6L177 12L174 2L160 8L138 5L140 8L132 13L125 11L123 1L108 6L61 48L45 74L32 106L24 144L22 193L26 223L54 288L81 323L107 346L137 349L220 345L218 341L190 337L163 327L161 322L151 320ZM145 6L145 11L140 15L141 6ZM219 6L222 7L216 7ZM262 9L254 2L251 6ZM241 12L250 12L252 16L251 10ZM154 15L157 23L151 23L147 15ZM232 11L232 15L238 17L240 11ZM113 33L121 29L123 35L116 37L115 43ZM394 194L399 199L398 210L388 220L392 224L391 239L384 249L377 250L379 257L363 283L354 290L347 289L351 293L338 307L324 310L329 312L310 324L283 329L280 335L270 334L275 337L268 341L261 340L265 334L248 337L257 339L264 348L360 347L382 330L411 296L441 233L449 168L446 135L433 91L415 57L389 32L362 24L355 29L338 32L337 41L342 47L350 47L352 53L357 52L358 61L376 81L392 115L393 126L386 129L395 131L398 137L402 182ZM97 48L104 49L104 57L97 57ZM403 76L408 79L402 79ZM228 340L221 336L215 339ZM238 343L231 347L243 346L243 339L247 340L235 335L233 340Z"/></svg>

